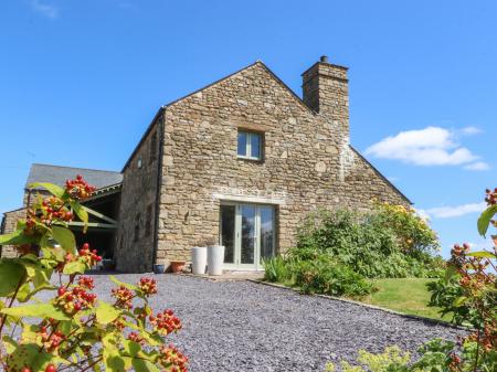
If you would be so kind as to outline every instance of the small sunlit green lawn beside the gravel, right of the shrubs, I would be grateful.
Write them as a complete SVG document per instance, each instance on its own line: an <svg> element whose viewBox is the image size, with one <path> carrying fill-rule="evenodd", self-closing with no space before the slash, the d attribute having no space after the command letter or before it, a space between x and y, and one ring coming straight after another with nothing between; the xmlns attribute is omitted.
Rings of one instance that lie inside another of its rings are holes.
<svg viewBox="0 0 497 372"><path fill-rule="evenodd" d="M427 307L430 293L426 284L433 279L402 278L374 279L379 290L362 299L362 302L392 309L399 312L416 315L426 318L441 319L437 308ZM445 316L442 320L450 320Z"/></svg>

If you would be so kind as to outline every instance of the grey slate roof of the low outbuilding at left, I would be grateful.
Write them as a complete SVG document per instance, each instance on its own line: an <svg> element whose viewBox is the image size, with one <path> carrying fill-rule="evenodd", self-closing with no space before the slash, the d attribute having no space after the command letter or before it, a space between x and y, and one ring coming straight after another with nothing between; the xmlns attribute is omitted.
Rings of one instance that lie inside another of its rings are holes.
<svg viewBox="0 0 497 372"><path fill-rule="evenodd" d="M83 176L86 182L97 189L123 182L120 172L33 163L25 182L25 189L29 189L29 185L33 182L50 182L62 187L66 180L74 179L76 174Z"/></svg>

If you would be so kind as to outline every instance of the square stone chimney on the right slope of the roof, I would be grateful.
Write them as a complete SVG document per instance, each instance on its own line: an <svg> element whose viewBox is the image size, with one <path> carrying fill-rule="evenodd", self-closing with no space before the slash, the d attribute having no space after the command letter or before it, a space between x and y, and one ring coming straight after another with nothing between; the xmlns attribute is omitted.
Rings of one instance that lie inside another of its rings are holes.
<svg viewBox="0 0 497 372"><path fill-rule="evenodd" d="M332 125L339 126L340 135L349 138L349 81L347 67L328 62L322 55L303 77L303 96L305 104L325 117Z"/></svg>

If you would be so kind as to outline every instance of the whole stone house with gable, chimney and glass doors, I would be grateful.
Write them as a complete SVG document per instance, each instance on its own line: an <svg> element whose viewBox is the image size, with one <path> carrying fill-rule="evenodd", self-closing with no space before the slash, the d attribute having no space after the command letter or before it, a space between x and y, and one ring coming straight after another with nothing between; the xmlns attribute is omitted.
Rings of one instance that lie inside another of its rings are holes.
<svg viewBox="0 0 497 372"><path fill-rule="evenodd" d="M350 145L347 67L322 56L302 77L300 98L257 61L159 108L113 189L117 269L210 241L225 268L260 269L316 208L410 204Z"/></svg>

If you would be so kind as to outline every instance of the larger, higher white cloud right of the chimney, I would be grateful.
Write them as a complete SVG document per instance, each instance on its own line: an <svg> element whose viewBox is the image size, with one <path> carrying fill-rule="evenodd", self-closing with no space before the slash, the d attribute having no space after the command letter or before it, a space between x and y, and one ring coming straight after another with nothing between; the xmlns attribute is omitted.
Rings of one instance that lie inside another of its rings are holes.
<svg viewBox="0 0 497 372"><path fill-rule="evenodd" d="M461 166L479 157L455 141L455 132L441 127L401 131L366 149L367 155L415 166Z"/></svg>

